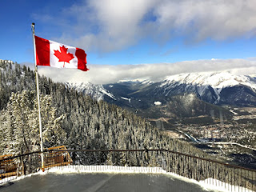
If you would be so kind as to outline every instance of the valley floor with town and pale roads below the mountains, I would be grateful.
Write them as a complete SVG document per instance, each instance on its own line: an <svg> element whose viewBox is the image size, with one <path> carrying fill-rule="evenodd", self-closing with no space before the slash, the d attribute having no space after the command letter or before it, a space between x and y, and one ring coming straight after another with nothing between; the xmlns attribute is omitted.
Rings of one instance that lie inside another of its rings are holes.
<svg viewBox="0 0 256 192"><path fill-rule="evenodd" d="M256 126L255 109L241 108L241 113L229 121L214 123L182 123L174 119L148 119L171 138L176 138L205 151L225 162L256 169ZM236 109L238 112L238 109ZM250 118L248 118L250 117ZM205 118L205 117L198 117ZM193 119L193 118L192 118ZM202 121L203 122L203 121Z"/></svg>

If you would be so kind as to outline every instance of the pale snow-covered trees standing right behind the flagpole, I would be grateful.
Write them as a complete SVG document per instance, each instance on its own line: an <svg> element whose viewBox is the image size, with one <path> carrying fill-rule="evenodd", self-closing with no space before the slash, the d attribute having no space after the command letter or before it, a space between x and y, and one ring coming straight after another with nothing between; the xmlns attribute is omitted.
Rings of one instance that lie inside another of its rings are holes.
<svg viewBox="0 0 256 192"><path fill-rule="evenodd" d="M66 133L61 128L63 116L57 117L50 96L41 97L44 146L60 145ZM0 114L1 147L6 154L24 154L39 150L38 108L34 92L13 93L6 110Z"/></svg>

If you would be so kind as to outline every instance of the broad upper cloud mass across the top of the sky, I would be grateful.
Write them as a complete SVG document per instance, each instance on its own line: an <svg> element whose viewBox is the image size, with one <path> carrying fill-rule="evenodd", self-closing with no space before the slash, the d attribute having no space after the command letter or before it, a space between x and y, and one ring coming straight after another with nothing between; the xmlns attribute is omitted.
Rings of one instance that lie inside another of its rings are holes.
<svg viewBox="0 0 256 192"><path fill-rule="evenodd" d="M84 0L34 18L72 29L53 40L104 53L145 39L196 43L256 35L255 0Z"/></svg>

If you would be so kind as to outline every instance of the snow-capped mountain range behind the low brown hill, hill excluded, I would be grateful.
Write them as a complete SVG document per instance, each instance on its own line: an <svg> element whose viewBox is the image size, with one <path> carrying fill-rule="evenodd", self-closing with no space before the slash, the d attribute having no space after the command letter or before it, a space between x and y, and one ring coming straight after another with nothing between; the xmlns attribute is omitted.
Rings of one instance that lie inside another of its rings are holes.
<svg viewBox="0 0 256 192"><path fill-rule="evenodd" d="M199 100L215 105L256 106L256 80L229 72L177 74L159 82L135 79L106 85L67 85L93 98L134 109L166 105L171 97L183 94L194 94Z"/></svg>

